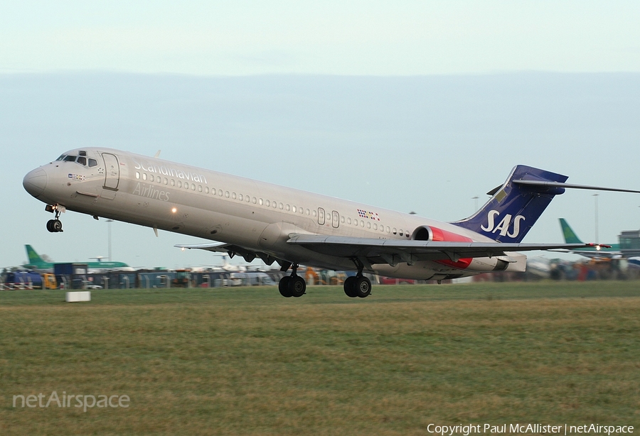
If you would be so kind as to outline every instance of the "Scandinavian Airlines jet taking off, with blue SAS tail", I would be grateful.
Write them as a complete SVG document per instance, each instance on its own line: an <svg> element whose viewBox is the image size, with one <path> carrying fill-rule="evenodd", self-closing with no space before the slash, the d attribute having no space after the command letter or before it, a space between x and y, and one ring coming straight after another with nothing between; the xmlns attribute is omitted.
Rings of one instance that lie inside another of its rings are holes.
<svg viewBox="0 0 640 436"><path fill-rule="evenodd" d="M157 156L157 155L156 155ZM109 148L80 148L28 173L23 186L55 214L73 210L209 239L183 248L206 249L279 263L285 297L304 294L300 264L358 271L344 291L364 298L363 272L443 280L491 271L524 271L516 251L575 249L590 244L523 244L522 239L555 195L564 175L518 165L473 216L438 222L358 202L204 170ZM617 190L623 192L640 192Z"/></svg>

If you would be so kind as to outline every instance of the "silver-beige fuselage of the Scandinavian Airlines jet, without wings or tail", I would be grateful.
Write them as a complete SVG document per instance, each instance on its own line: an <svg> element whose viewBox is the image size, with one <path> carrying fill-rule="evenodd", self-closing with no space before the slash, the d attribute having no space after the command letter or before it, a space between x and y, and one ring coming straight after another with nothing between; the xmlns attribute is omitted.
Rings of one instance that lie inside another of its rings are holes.
<svg viewBox="0 0 640 436"><path fill-rule="evenodd" d="M444 240L492 241L445 222L109 148L69 151L28 173L23 184L33 197L63 212L198 236L278 261L337 270L355 269L353 259L287 240L294 234L321 234L410 241L429 227L454 236ZM439 279L498 268L524 271L526 257L511 254L508 262L493 256L398 260L364 269L392 277Z"/></svg>

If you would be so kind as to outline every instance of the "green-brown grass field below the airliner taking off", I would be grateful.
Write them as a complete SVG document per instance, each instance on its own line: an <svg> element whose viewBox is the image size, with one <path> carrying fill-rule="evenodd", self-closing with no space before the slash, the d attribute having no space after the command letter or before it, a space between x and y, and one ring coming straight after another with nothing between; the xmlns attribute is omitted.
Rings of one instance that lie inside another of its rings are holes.
<svg viewBox="0 0 640 436"><path fill-rule="evenodd" d="M2 291L0 435L637 429L639 314L640 282ZM13 406L53 391L129 407Z"/></svg>

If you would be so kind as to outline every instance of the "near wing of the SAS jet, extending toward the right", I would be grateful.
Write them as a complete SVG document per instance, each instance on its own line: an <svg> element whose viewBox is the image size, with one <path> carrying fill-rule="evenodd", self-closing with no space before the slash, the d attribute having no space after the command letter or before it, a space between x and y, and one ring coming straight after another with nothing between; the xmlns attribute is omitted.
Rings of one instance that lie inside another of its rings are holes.
<svg viewBox="0 0 640 436"><path fill-rule="evenodd" d="M460 258L507 256L510 251L570 250L594 246L593 244L402 241L311 234L294 235L287 243L304 246L320 254L368 258L372 263L390 263L388 259L393 256L398 256L400 261L458 261Z"/></svg>

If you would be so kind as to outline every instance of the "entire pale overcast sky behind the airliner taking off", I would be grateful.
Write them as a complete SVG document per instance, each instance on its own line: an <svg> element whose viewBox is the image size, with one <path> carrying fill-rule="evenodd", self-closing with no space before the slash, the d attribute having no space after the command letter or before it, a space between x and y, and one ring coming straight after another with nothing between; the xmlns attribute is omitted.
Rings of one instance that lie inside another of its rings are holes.
<svg viewBox="0 0 640 436"><path fill-rule="evenodd" d="M48 234L21 186L82 145L443 220L518 163L640 189L639 22L632 1L4 2L0 267L23 244L107 256L104 221ZM638 196L598 202L599 241L640 227ZM592 192L568 192L525 241L561 242L559 217L594 240ZM218 263L131 224L112 241L132 266Z"/></svg>

